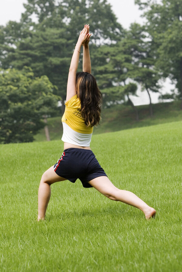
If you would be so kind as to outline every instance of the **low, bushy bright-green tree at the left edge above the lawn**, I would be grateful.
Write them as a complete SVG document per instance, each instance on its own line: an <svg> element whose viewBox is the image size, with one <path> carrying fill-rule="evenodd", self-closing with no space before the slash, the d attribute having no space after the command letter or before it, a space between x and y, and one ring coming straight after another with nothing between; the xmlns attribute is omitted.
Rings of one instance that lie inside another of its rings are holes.
<svg viewBox="0 0 182 272"><path fill-rule="evenodd" d="M42 118L57 111L59 97L47 76L34 77L30 67L1 70L0 143L32 142L45 126Z"/></svg>

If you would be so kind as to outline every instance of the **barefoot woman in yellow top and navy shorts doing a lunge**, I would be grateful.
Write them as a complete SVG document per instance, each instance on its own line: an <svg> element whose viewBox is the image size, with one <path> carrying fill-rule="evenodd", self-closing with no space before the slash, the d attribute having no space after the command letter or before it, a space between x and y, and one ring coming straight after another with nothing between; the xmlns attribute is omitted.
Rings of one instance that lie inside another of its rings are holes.
<svg viewBox="0 0 182 272"><path fill-rule="evenodd" d="M139 208L146 219L156 211L130 191L116 188L99 165L90 149L93 126L100 120L102 95L91 75L89 55L89 25L81 31L72 56L66 95L66 108L62 116L64 151L58 162L42 175L38 195L38 221L45 219L51 196L50 185L57 181L77 178L83 187L94 187L106 197ZM83 72L76 73L79 53L83 45Z"/></svg>

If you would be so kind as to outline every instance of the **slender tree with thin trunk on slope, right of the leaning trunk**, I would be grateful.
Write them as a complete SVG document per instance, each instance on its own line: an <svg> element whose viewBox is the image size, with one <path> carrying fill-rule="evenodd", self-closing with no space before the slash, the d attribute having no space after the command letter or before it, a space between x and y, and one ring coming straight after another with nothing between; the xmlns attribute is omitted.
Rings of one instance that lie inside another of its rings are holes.
<svg viewBox="0 0 182 272"><path fill-rule="evenodd" d="M156 59L153 55L152 41L148 38L145 28L136 23L130 25L126 41L133 57L133 63L137 65L131 71L130 77L141 84L142 91L147 91L150 101L149 112L152 117L153 108L150 91L159 92L161 88L158 83L161 75L155 68Z"/></svg>

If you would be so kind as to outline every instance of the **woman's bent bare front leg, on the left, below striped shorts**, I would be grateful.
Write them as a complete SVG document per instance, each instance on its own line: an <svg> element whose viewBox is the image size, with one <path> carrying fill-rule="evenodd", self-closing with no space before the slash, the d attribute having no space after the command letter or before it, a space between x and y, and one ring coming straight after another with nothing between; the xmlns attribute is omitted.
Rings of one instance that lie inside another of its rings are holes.
<svg viewBox="0 0 182 272"><path fill-rule="evenodd" d="M54 166L50 167L42 175L38 193L38 221L45 219L45 212L51 197L51 184L65 180L66 178L60 177L55 173Z"/></svg>

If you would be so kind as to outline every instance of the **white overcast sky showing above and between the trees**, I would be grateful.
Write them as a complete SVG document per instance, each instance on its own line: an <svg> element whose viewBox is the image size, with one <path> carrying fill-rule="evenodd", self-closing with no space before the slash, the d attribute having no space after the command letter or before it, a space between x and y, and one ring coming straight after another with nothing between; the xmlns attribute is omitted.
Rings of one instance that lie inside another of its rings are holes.
<svg viewBox="0 0 182 272"><path fill-rule="evenodd" d="M0 25L5 25L9 20L19 21L21 18L21 13L25 11L23 3L26 0L0 0ZM107 0L112 5L113 12L118 18L118 22L124 27L129 28L130 23L137 22L143 24L145 21L140 18L142 11L138 9L137 5L134 5L134 0ZM157 0L160 2L160 0ZM174 88L167 79L164 84L163 92L170 91ZM139 97L131 96L134 105L148 104L149 98L147 91L140 92L137 91ZM152 103L158 102L159 94L151 93Z"/></svg>

